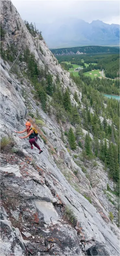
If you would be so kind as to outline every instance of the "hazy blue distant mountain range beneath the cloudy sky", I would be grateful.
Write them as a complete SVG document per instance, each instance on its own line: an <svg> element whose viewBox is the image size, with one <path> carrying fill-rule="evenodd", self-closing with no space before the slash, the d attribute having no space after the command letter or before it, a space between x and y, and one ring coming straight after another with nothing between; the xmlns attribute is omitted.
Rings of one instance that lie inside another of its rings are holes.
<svg viewBox="0 0 120 256"><path fill-rule="evenodd" d="M119 46L120 26L102 21L85 22L70 18L51 24L36 24L49 48L87 45Z"/></svg>

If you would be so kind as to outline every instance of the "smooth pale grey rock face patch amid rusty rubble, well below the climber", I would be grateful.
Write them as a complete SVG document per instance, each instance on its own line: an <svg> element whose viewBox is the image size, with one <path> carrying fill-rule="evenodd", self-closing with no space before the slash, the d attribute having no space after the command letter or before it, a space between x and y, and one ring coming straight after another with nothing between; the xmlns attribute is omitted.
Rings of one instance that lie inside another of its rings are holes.
<svg viewBox="0 0 120 256"><path fill-rule="evenodd" d="M45 201L35 201L35 205L39 211L41 211L44 215L44 220L47 224L51 224L51 220L53 224L59 223L59 217L54 209L54 206L50 202ZM51 219L50 219L51 218Z"/></svg>

